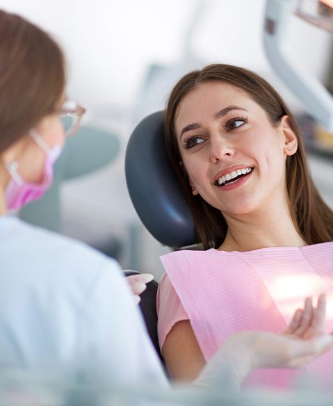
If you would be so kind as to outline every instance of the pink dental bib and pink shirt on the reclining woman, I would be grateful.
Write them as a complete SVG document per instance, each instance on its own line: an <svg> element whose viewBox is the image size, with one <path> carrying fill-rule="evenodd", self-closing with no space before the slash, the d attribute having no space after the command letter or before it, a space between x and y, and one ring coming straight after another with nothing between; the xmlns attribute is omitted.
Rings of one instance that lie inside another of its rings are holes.
<svg viewBox="0 0 333 406"><path fill-rule="evenodd" d="M161 257L166 275L157 296L159 342L179 320L190 320L206 360L228 336L240 331L283 332L308 295L333 293L333 243L270 247L248 252L172 252ZM327 332L333 308L327 309ZM333 351L307 372L332 377ZM245 384L289 387L298 371L261 369ZM332 378L331 378L332 379Z"/></svg>

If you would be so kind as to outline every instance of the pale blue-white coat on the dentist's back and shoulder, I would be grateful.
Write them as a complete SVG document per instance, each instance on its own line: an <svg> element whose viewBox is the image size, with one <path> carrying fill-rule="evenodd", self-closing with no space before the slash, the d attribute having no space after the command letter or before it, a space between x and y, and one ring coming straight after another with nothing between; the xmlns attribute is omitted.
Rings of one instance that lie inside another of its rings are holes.
<svg viewBox="0 0 333 406"><path fill-rule="evenodd" d="M0 371L167 384L114 260L9 216L0 252Z"/></svg>

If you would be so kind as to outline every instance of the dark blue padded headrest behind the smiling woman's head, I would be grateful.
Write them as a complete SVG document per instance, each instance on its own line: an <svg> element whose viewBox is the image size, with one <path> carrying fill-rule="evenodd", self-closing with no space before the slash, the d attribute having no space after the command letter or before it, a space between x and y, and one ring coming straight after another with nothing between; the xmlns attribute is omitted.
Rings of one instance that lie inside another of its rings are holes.
<svg viewBox="0 0 333 406"><path fill-rule="evenodd" d="M169 247L197 243L192 214L164 146L163 111L133 130L125 156L127 188L147 230Z"/></svg>

